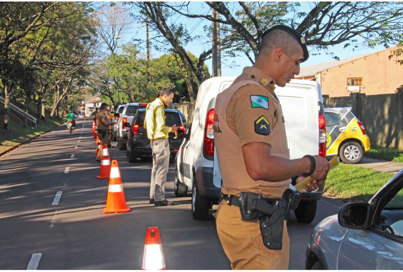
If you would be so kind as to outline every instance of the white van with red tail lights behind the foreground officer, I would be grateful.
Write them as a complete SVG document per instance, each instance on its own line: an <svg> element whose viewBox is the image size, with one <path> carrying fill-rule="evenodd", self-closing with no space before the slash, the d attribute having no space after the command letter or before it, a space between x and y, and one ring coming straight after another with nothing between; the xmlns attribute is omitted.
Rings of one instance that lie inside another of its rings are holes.
<svg viewBox="0 0 403 272"><path fill-rule="evenodd" d="M200 85L193 122L176 156L175 195L186 196L188 187L192 188L192 216L197 220L207 218L209 209L217 204L220 196L222 181L215 149L214 156L208 156L204 150L206 144L214 143L214 136L209 138L206 129L214 121L217 94L228 88L235 78L213 77ZM293 79L285 87L276 87L274 92L283 108L290 158L302 158L306 154L326 158L326 124L320 85L315 81ZM315 192L301 194L295 210L299 222L314 220L323 188L324 184Z"/></svg>

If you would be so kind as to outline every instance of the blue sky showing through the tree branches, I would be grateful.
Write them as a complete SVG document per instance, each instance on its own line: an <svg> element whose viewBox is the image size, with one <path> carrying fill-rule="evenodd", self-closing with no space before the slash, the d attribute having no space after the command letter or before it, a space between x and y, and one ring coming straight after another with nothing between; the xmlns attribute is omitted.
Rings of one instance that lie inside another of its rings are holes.
<svg viewBox="0 0 403 272"><path fill-rule="evenodd" d="M310 10L310 2L301 2L301 7L300 11L309 11ZM190 3L190 8L191 10L196 12L204 12L205 14L210 14L211 10L205 4L204 2L191 2ZM178 16L178 17L171 17L170 18L172 22L175 23L183 23L186 26L186 29L192 33L192 35L202 35L204 33L203 27L204 25L209 25L211 26L211 22L207 20L200 20L200 19L189 19L184 16ZM157 35L157 33L150 32L150 38L154 37ZM120 43L122 42L128 42L130 41L133 37L139 38L139 39L144 39L146 37L146 31L145 31L145 24L139 24L135 23L133 24L133 29L130 33L127 35L123 36L123 39L121 40ZM185 49L190 51L191 53L195 54L195 56L199 56L204 50L208 49L208 46L211 46L211 42L206 38L200 38L196 39L193 42L187 44L185 46ZM347 58L349 56L354 56L354 55L359 55L359 54L364 54L367 52L377 52L379 50L385 49L383 46L376 46L375 48L359 48L355 49L354 51L352 50L352 47L348 48L343 48L344 44L339 44L336 46L333 46L329 49L329 51L332 51L335 56L338 56L339 58ZM308 48L310 50L310 48ZM145 52L145 50L143 50ZM309 59L306 62L303 62L301 64L301 67L303 66L308 66L312 64L317 64L321 62L326 62L330 60L334 60L331 56L328 56L325 54L325 52L321 52L321 55L316 55L312 56L310 55ZM151 55L152 58L156 58L164 54L164 52L157 52L154 48L151 48ZM253 54L252 54L253 55ZM212 71L212 60L207 60L206 65L208 66L208 69L211 73ZM236 76L241 74L243 67L251 65L251 62L247 58L247 56L237 56L237 57L226 57L222 59L222 66L221 66L221 73L222 76Z"/></svg>

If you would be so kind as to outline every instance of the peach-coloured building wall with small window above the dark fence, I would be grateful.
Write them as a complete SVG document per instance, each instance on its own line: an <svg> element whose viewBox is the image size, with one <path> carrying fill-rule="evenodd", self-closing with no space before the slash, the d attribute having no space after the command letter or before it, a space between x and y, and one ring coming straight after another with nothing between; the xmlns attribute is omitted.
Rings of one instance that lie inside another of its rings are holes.
<svg viewBox="0 0 403 272"><path fill-rule="evenodd" d="M392 50L386 49L322 71L319 77L322 94L349 96L347 77L362 77L365 88L361 92L367 96L395 93L396 88L403 84L403 66L396 64L393 58L389 60Z"/></svg>

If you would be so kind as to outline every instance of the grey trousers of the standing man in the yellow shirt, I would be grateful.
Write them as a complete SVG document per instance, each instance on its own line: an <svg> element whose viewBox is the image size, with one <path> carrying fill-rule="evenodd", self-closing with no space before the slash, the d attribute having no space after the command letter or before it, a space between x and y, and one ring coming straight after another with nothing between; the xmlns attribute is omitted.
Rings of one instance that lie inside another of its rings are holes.
<svg viewBox="0 0 403 272"><path fill-rule="evenodd" d="M166 174L169 167L169 143L168 138L151 140L152 170L150 198L155 201L165 199Z"/></svg>

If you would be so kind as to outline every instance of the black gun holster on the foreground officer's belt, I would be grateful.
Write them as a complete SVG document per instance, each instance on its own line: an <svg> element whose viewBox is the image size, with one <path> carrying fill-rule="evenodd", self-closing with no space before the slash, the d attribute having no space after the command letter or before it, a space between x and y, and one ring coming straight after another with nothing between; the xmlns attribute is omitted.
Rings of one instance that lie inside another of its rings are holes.
<svg viewBox="0 0 403 272"><path fill-rule="evenodd" d="M287 189L282 198L263 198L261 194L241 192L239 210L241 220L258 222L264 246L272 250L283 247L284 221L288 219L290 210L295 210L299 203L300 193Z"/></svg>

